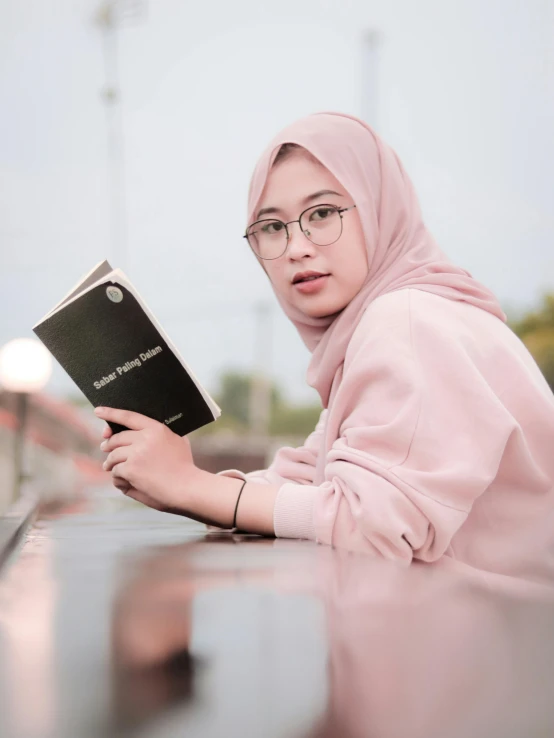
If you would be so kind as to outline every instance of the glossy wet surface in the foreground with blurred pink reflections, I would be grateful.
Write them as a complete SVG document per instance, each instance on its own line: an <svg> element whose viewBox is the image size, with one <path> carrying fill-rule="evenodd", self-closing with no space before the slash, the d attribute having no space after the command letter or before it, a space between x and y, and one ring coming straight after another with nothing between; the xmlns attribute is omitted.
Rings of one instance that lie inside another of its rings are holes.
<svg viewBox="0 0 554 738"><path fill-rule="evenodd" d="M554 586L97 495L0 575L0 735L547 738Z"/></svg>

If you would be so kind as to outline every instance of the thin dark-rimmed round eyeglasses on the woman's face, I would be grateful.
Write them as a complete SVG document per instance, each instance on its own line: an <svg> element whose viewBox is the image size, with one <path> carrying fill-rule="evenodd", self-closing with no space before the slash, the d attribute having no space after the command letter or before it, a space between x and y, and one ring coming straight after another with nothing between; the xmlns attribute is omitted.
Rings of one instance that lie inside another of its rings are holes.
<svg viewBox="0 0 554 738"><path fill-rule="evenodd" d="M283 256L290 241L288 226L298 223L302 233L316 246L330 246L342 235L342 214L355 208L337 208L335 205L312 205L298 217L284 223L275 218L257 220L248 226L243 238L260 259L272 260Z"/></svg>

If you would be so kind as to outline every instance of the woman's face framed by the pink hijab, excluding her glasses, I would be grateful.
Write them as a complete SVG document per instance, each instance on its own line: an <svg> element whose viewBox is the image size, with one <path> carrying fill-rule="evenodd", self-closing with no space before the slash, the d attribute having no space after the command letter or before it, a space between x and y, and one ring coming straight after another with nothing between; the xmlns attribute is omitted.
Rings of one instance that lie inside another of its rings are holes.
<svg viewBox="0 0 554 738"><path fill-rule="evenodd" d="M271 170L256 219L278 218L286 223L318 204L348 208L354 202L322 164L305 151L294 152ZM314 234L316 221L325 216L325 211L313 216ZM298 223L291 223L288 229L285 253L262 261L274 289L305 315L321 318L340 312L358 294L368 273L357 209L342 213L342 234L328 246L312 243ZM314 275L321 276L314 279Z"/></svg>

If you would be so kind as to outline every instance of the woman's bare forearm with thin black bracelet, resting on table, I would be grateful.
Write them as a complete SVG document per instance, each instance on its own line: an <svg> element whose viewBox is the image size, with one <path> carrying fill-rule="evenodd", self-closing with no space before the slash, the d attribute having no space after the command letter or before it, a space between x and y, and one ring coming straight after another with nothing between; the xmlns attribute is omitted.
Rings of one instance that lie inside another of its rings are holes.
<svg viewBox="0 0 554 738"><path fill-rule="evenodd" d="M243 482L240 479L197 470L187 481L187 510L181 511L194 520L208 525L230 527L237 498ZM237 510L237 527L248 533L275 535L273 511L279 487L247 482Z"/></svg>

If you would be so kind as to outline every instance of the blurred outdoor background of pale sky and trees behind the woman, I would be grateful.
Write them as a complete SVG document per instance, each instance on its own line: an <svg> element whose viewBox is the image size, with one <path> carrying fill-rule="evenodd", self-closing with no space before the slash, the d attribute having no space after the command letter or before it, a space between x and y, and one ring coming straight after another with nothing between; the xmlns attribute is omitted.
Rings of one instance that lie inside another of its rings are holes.
<svg viewBox="0 0 554 738"><path fill-rule="evenodd" d="M0 347L107 258L222 406L200 466L300 442L309 357L241 236L258 155L321 110L396 149L554 387L553 0L2 0ZM105 483L100 431L58 366L5 379L0 512Z"/></svg>

